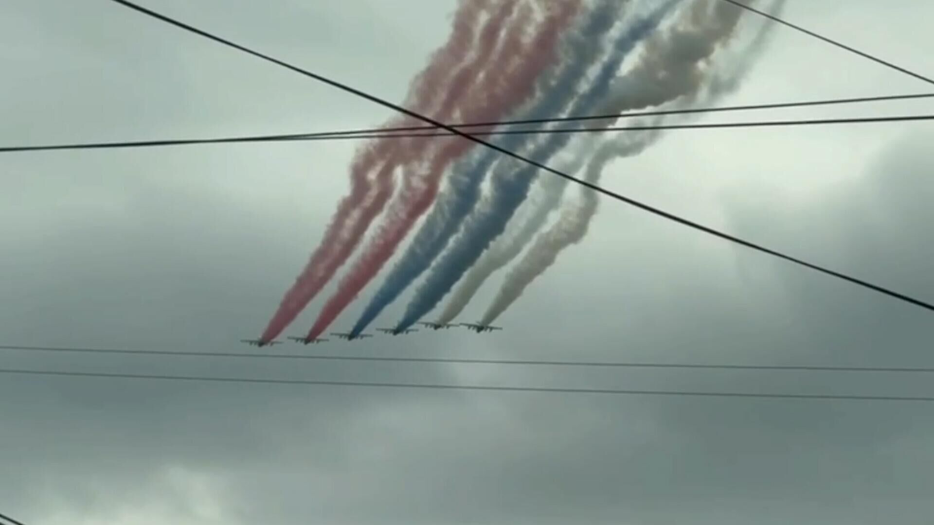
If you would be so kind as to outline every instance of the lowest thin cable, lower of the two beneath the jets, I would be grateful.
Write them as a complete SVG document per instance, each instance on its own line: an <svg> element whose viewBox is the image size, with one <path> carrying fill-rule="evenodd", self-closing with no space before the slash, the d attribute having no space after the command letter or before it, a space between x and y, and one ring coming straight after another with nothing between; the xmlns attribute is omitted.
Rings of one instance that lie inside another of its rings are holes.
<svg viewBox="0 0 934 525"><path fill-rule="evenodd" d="M756 392L711 392L681 390L616 390L616 389L571 389L551 387L507 387L484 385L445 385L430 383L389 383L370 381L324 381L310 379L262 379L257 377L211 377L211 376L162 376L150 374L107 374L101 372L64 372L52 370L16 370L0 369L0 374L19 376L70 376L100 377L110 379L150 379L162 381L194 381L205 383L249 383L265 385L306 385L322 387L360 387L383 389L424 389L424 390L486 390L509 392L548 392L565 394L610 394L610 395L654 395L681 397L732 397L760 399L799 399L815 401L902 401L934 402L934 397L927 396L881 396L881 395L845 395L845 394L785 394Z"/></svg>

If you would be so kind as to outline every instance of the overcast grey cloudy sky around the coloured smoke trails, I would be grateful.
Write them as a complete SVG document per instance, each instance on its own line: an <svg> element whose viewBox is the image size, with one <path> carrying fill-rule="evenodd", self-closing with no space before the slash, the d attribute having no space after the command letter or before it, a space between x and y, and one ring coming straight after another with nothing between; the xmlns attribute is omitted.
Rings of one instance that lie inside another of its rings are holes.
<svg viewBox="0 0 934 525"><path fill-rule="evenodd" d="M455 7L453 0L145 5L392 101L445 40ZM784 16L934 75L927 52L934 5L792 1ZM0 3L0 62L3 146L303 133L389 117L104 1ZM926 90L785 28L724 104ZM770 118L931 109L911 102ZM925 122L684 131L613 164L603 182L931 301L932 140ZM236 341L262 330L318 243L347 191L354 148L0 155L0 345L247 351ZM494 291L488 285L466 315L480 315ZM304 333L326 296L290 333ZM363 303L335 328L349 327ZM380 320L401 313L393 306ZM439 331L284 351L934 366L926 311L605 200L585 242L499 322L501 333ZM927 376L893 374L7 350L0 368L934 395ZM0 415L0 513L28 525L921 525L934 513L930 404L0 376Z"/></svg>

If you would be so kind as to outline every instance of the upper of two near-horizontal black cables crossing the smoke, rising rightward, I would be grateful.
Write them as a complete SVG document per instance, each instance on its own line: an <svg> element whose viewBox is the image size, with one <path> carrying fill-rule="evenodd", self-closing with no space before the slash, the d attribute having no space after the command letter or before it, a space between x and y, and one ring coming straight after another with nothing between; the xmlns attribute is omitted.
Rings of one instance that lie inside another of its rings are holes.
<svg viewBox="0 0 934 525"><path fill-rule="evenodd" d="M636 117L655 117L655 116L664 116L664 115L684 115L691 113L719 113L719 112L728 112L728 111L753 111L761 109L781 109L788 107L806 107L806 106L832 106L832 105L844 105L844 104L862 104L869 102L884 102L884 101L894 101L894 100L912 100L920 98L931 98L934 97L934 93L919 93L919 94L901 94L901 95L883 95L883 96L871 96L871 97L858 97L858 98L842 98L842 99L828 99L828 100L814 100L814 101L805 101L805 102L784 102L784 103L775 103L775 104L756 104L756 105L745 105L745 106L723 106L723 107L698 107L698 108L689 108L689 109L667 109L667 110L658 110L658 111L642 111L634 113L614 113L607 115L590 115L584 117L560 117L554 119L531 119L524 121L498 121L498 122L474 122L474 123L460 123L460 124L450 124L451 127L466 129L474 127L490 127L490 126L504 126L504 125L524 125L524 124L537 124L537 123L548 123L548 122L568 122L568 121L598 121L598 120L609 120L609 119L631 119ZM839 123L839 122L826 122L826 123ZM726 127L721 125L721 127ZM51 151L51 150L62 150L62 149L120 149L120 148L152 148L152 147L165 147L165 146L191 146L191 145L203 145L203 144L231 144L231 143L245 143L245 142L279 142L279 141L294 141L294 140L336 140L336 139L364 139L364 138L405 138L412 136L450 136L454 135L451 133L443 133L437 135L402 135L403 133L409 132L424 132L432 131L438 129L436 126L406 126L406 127L395 127L395 128L366 128L366 129L356 129L356 130L341 130L333 132L317 132L317 133L305 133L305 134L286 134L286 135L247 135L247 136L230 136L230 137L220 137L220 138L186 138L186 139L163 139L163 140L142 140L142 141L123 141L123 142L92 142L92 143L78 143L78 144L52 144L52 145L38 145L38 146L13 146L13 147L3 147L0 148L0 153L11 153L11 152L22 152L22 151ZM639 128L644 129L644 128ZM658 128L650 128L658 129ZM672 128L663 128L663 129L672 129ZM673 129L686 129L686 128L673 128ZM582 130L582 131L627 131L631 128L614 128L612 130ZM542 130L509 130L510 134L536 134L543 133ZM544 132L548 133L548 132ZM551 132L554 133L554 132ZM568 133L568 132L564 132ZM571 132L573 133L573 132ZM485 132L485 133L473 133L472 135L507 135L502 132Z"/></svg>

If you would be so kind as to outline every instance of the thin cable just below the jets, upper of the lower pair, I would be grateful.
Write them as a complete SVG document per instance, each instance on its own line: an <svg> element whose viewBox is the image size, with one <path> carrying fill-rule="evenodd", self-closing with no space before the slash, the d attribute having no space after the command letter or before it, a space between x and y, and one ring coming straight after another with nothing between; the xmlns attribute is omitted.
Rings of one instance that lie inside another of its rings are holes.
<svg viewBox="0 0 934 525"><path fill-rule="evenodd" d="M245 352L187 352L177 350L129 350L122 348L69 348L69 347L17 347L0 346L0 350L24 350L30 352L60 352L82 354L120 354L172 356L192 358L234 358L262 360L306 360L306 361L350 361L350 362L426 362L449 364L499 364L522 366L575 366L599 368L673 368L705 370L773 370L810 372L876 372L876 373L921 373L934 374L934 368L876 367L876 366L817 366L817 365L768 365L768 364L702 364L670 362L578 362L541 360L498 360L461 358L381 357L315 354L274 354Z"/></svg>

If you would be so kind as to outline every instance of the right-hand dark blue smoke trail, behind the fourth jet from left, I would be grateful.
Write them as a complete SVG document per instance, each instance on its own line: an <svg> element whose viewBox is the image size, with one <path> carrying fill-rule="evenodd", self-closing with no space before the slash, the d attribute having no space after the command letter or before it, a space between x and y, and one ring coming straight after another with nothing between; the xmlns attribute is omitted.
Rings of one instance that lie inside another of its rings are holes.
<svg viewBox="0 0 934 525"><path fill-rule="evenodd" d="M678 2L679 0L669 0L620 32L614 49L601 64L595 78L590 81L585 92L574 99L571 113L586 115L595 109L594 106L610 89L610 80L616 75L625 57L658 27ZM558 127L569 126L573 124L562 122ZM549 135L532 151L531 158L538 162L546 162L570 140L569 134ZM504 165L508 168L515 163ZM399 323L400 327L411 326L437 305L464 272L476 262L490 242L502 234L517 207L525 199L537 170L534 166L523 165L509 173L502 173L499 169L494 172L493 189L488 199L467 220L457 244L447 251L418 289L415 298L406 308L403 320Z"/></svg>

